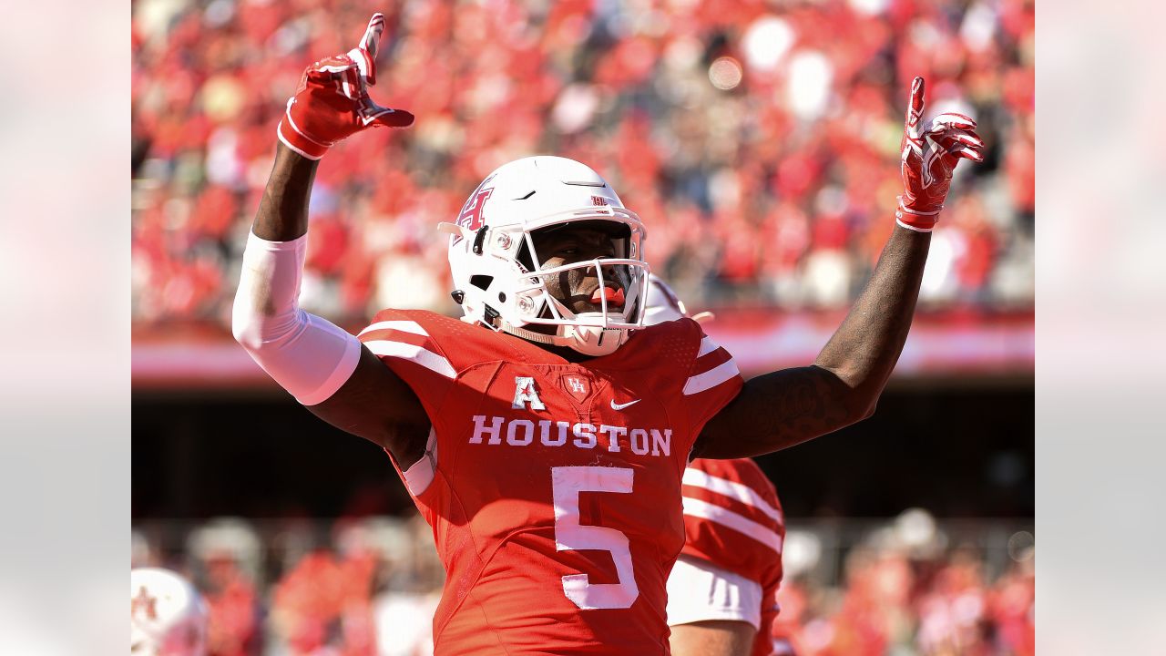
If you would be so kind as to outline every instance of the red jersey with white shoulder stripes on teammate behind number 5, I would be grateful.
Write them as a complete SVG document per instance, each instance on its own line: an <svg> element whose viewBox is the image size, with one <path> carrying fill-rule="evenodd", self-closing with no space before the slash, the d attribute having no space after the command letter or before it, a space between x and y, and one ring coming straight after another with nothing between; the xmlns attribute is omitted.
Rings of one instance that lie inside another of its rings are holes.
<svg viewBox="0 0 1166 656"><path fill-rule="evenodd" d="M694 460L684 470L683 554L705 560L761 586L761 626L753 656L774 652L773 620L781 585L786 523L778 490L756 462Z"/></svg>

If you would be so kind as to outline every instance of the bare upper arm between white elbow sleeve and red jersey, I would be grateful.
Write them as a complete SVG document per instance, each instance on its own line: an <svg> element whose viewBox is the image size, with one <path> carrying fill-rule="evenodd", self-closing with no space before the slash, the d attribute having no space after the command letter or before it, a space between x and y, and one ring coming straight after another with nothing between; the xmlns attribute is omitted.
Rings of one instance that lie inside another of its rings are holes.
<svg viewBox="0 0 1166 656"><path fill-rule="evenodd" d="M421 400L364 344L349 379L328 399L307 407L337 428L387 448L402 469L424 452L430 423Z"/></svg>

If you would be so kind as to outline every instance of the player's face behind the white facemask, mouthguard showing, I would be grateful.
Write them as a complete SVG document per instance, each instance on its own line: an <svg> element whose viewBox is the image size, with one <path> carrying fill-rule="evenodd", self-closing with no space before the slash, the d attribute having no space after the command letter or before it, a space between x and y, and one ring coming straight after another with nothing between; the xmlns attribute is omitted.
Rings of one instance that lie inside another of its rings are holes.
<svg viewBox="0 0 1166 656"><path fill-rule="evenodd" d="M609 231L586 224L566 225L531 236L542 268L562 266L596 258L627 257L620 245L626 239L612 238ZM543 277L547 291L571 312L600 312L600 296L606 295L609 309L621 309L631 285L626 266L603 267L603 288L596 267L580 267Z"/></svg>

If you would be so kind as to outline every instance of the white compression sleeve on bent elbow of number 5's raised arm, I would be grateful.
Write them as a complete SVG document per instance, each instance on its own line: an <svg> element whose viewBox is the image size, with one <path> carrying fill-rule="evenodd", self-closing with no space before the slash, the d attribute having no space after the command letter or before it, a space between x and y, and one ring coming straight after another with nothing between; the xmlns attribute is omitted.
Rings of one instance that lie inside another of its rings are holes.
<svg viewBox="0 0 1166 656"><path fill-rule="evenodd" d="M356 371L360 342L297 306L307 247L307 235L290 242L247 237L231 332L297 402L316 405Z"/></svg>

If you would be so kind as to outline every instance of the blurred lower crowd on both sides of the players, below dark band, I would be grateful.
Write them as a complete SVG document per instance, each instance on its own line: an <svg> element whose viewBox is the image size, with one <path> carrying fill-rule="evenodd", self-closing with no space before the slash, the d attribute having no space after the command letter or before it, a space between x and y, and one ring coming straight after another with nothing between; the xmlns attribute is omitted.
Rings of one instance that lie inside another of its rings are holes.
<svg viewBox="0 0 1166 656"><path fill-rule="evenodd" d="M1034 654L1031 532L918 510L843 529L787 535L774 633L800 656ZM195 582L211 656L431 654L442 570L416 517L139 523L133 566Z"/></svg>

